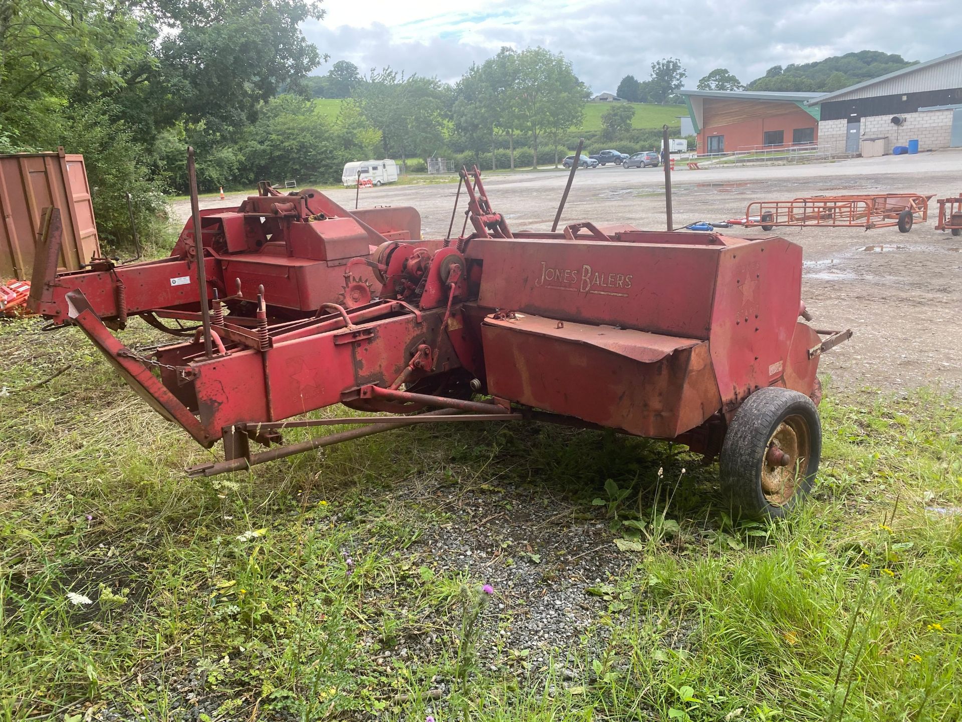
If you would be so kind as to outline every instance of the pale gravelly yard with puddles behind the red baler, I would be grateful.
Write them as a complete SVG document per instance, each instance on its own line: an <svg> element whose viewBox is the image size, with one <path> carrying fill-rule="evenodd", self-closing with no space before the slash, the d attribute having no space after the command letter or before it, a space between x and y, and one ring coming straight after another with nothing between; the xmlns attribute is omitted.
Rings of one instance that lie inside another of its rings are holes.
<svg viewBox="0 0 962 722"><path fill-rule="evenodd" d="M683 166L684 164L676 164ZM488 173L485 188L494 210L513 229L550 228L568 172ZM580 169L562 223L626 222L643 229L665 227L662 168L617 166ZM361 205L411 205L425 237L443 236L451 219L457 183L386 186L361 190ZM847 193L935 193L929 220L909 233L896 227L732 227L733 236L780 235L804 247L803 297L820 328L855 331L827 353L821 369L840 391L887 391L917 386L962 387L962 238L934 230L936 198L962 192L962 152L885 156L837 163L769 168L714 168L672 174L674 225L721 221L745 215L753 200ZM354 189L327 192L347 208ZM203 198L202 207L240 202ZM462 193L461 210L464 210ZM190 213L184 200L175 213ZM454 235L464 217L459 211Z"/></svg>

